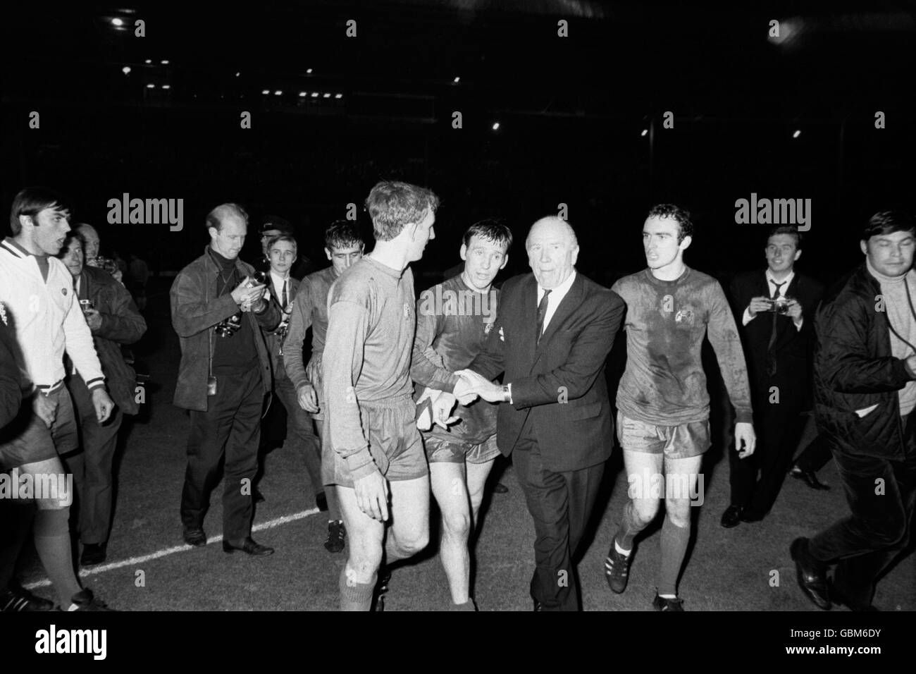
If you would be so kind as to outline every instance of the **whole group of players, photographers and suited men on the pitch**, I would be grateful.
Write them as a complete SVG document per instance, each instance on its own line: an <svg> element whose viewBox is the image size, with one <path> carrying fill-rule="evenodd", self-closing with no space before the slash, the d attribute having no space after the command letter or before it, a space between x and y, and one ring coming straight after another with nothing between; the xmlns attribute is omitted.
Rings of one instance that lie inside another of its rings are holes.
<svg viewBox="0 0 916 674"><path fill-rule="evenodd" d="M850 512L792 542L797 580L820 608L875 608L875 583L908 544L916 500L911 215L874 215L860 240L865 261L826 292L794 269L802 234L776 227L767 268L739 274L728 294L685 263L694 225L676 205L649 210L647 267L610 289L576 270L575 231L555 216L527 232L530 273L497 289L513 236L483 220L463 235L461 271L418 298L410 264L435 238L438 204L428 189L379 182L365 202L371 252L353 222L335 221L324 233L331 265L301 281L292 274L303 262L298 243L282 218L261 227L258 271L239 259L245 209L221 204L207 215L210 242L170 291L181 348L174 403L190 418L186 543L207 544L204 516L222 466L224 550L274 552L251 536L262 430L281 423L265 415L273 407L285 412L288 446L328 513L324 546L346 548L342 610L384 610L392 565L429 544L430 494L451 608L476 610L468 543L500 453L513 460L534 525L533 608L577 610L575 559L616 429L629 490L606 581L626 591L641 532L664 503L652 606L683 611L678 578L712 445L708 339L735 416L721 524L765 518L787 471L823 488L815 471L832 455ZM57 606L106 608L73 572L70 530L82 565L104 560L118 428L137 411L122 346L147 326L125 287L86 263L97 235L93 245L69 221L60 194L27 188L0 243L0 470L72 476L79 504L71 513L67 490L0 503L11 515L0 550L4 610L53 605L16 583L29 531ZM620 328L627 365L612 405L605 360ZM819 435L793 465L812 412Z"/></svg>

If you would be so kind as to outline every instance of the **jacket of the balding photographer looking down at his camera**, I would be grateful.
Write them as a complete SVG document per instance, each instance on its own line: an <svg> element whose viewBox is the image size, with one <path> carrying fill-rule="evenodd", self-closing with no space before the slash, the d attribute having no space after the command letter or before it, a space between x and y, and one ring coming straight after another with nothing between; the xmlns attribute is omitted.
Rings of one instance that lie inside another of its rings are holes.
<svg viewBox="0 0 916 674"><path fill-rule="evenodd" d="M244 276L250 276L255 269L242 260L235 260L235 268ZM181 362L178 382L175 385L174 403L188 410L207 411L207 378L210 376L213 358L213 326L238 311L238 305L230 293L216 296L216 282L220 269L213 258L203 250L203 255L181 270L172 283L171 299L172 326L178 333L181 345ZM257 358L260 361L261 385L265 394L270 392L270 357L260 327L273 330L280 322L277 306L266 303L261 314L245 312L255 335Z"/></svg>

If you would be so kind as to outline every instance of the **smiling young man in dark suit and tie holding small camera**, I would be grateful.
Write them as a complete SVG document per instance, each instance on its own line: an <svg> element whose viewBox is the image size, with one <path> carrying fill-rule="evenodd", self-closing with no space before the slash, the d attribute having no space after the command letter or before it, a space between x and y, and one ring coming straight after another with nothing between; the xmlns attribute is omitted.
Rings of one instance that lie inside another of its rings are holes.
<svg viewBox="0 0 916 674"><path fill-rule="evenodd" d="M802 235L796 227L771 229L765 254L766 271L738 274L731 285L758 449L745 459L728 455L731 504L722 515L726 528L758 522L769 512L798 442L800 414L811 408L811 319L823 286L795 273L795 261L802 257Z"/></svg>

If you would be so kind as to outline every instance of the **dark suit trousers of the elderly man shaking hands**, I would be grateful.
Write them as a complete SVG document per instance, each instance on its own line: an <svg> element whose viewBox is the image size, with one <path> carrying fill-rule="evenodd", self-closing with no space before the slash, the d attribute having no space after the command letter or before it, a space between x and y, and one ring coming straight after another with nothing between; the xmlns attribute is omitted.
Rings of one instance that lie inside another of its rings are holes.
<svg viewBox="0 0 916 674"><path fill-rule="evenodd" d="M526 422L513 451L513 465L534 519L531 598L544 611L578 611L573 558L592 514L605 463L564 472L545 468L538 440Z"/></svg>

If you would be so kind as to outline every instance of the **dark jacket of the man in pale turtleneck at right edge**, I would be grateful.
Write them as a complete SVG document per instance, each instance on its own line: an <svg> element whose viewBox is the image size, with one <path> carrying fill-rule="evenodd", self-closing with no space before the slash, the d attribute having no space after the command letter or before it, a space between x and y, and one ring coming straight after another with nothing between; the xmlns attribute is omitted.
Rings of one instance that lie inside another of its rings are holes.
<svg viewBox="0 0 916 674"><path fill-rule="evenodd" d="M898 391L916 378L891 355L880 294L863 264L824 296L815 319L814 412L841 451L900 460L913 438L904 436Z"/></svg>

